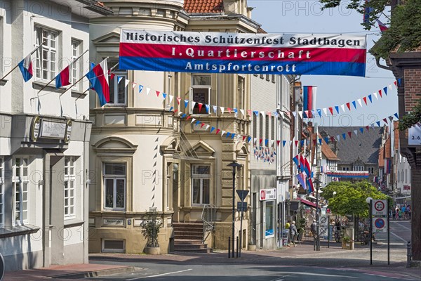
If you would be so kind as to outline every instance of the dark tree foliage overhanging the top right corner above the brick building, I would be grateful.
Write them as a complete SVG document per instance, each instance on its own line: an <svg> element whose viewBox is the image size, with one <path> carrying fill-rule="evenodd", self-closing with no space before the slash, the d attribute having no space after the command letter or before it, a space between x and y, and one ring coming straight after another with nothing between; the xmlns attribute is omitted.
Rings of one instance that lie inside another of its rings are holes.
<svg viewBox="0 0 421 281"><path fill-rule="evenodd" d="M390 5L389 0L319 1L323 8L334 8L343 2L348 4L347 8L356 10L361 14L370 11L368 20L361 23L366 30L370 30L375 25L377 18L385 11L386 6ZM370 53L376 58L387 60L392 51L413 51L421 46L421 0L400 1L400 5L394 7L392 11L389 24L389 30L383 32L377 44L370 50Z"/></svg>

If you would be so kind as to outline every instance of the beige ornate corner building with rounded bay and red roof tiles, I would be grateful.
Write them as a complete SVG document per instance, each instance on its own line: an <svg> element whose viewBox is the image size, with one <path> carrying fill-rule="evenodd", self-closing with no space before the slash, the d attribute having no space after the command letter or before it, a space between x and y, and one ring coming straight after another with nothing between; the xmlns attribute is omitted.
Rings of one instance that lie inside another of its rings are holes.
<svg viewBox="0 0 421 281"><path fill-rule="evenodd" d="M246 1L103 3L114 14L91 20L90 50L98 61L109 57L109 67L118 63L120 28L257 33L260 27L250 19ZM227 249L233 206L232 167L227 164L242 165L235 187L250 190L250 146L241 138L221 137L206 126L195 126L174 110L220 130L250 135L250 116L227 110L250 109L250 75L147 72L118 66L113 72L110 103L100 107L96 93L90 97L89 251L144 251L141 224L149 210L160 217L161 253L178 250L180 240L198 239L191 226L199 226L199 239L208 247ZM125 87L118 77L131 82ZM144 86L140 93L139 84ZM166 93L166 98L156 91ZM185 100L203 103L202 110L191 102L185 107ZM208 113L205 104L210 105ZM216 113L212 105L218 107ZM234 224L245 247L248 212L243 233L236 211Z"/></svg>

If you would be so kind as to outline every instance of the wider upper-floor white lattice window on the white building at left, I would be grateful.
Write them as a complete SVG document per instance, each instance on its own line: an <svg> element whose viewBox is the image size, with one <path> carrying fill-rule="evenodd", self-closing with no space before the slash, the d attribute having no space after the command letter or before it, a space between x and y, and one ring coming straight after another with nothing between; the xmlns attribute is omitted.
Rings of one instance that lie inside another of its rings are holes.
<svg viewBox="0 0 421 281"><path fill-rule="evenodd" d="M43 44L36 51L35 77L50 81L55 77L57 70L57 32L35 27L35 34L36 46Z"/></svg>

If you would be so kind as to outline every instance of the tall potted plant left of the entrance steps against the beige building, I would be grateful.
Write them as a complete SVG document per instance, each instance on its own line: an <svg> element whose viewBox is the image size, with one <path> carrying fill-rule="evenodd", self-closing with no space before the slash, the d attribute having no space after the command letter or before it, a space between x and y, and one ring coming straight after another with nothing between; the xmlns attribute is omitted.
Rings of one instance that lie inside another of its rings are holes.
<svg viewBox="0 0 421 281"><path fill-rule="evenodd" d="M146 212L145 218L141 224L142 235L147 239L145 253L146 254L161 254L161 249L158 243L159 229L161 228L161 221L158 219L156 208L149 209Z"/></svg>

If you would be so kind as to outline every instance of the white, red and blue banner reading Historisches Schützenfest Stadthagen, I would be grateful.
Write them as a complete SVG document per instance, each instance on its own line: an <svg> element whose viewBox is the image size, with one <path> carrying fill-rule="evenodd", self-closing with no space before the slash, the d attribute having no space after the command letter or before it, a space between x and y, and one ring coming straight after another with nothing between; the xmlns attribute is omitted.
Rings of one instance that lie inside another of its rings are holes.
<svg viewBox="0 0 421 281"><path fill-rule="evenodd" d="M121 30L123 70L366 74L366 37Z"/></svg>

